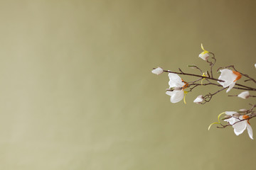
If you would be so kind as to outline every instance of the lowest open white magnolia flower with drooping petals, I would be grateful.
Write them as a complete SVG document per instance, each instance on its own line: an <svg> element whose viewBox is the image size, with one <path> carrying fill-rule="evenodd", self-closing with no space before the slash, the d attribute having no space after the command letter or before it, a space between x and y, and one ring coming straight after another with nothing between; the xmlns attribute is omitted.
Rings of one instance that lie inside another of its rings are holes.
<svg viewBox="0 0 256 170"><path fill-rule="evenodd" d="M233 112L233 111L226 111L225 112L226 115L233 115L235 113L237 113L237 112ZM240 115L239 119L232 117L232 118L226 119L224 121L230 123L230 125L233 126L235 135L242 134L242 132L244 132L245 129L247 128L248 135L253 140L253 138L252 138L252 127L250 126L249 120L244 120L244 119L247 119L247 118L249 118L248 115ZM243 120L243 121L241 121L241 120Z"/></svg>

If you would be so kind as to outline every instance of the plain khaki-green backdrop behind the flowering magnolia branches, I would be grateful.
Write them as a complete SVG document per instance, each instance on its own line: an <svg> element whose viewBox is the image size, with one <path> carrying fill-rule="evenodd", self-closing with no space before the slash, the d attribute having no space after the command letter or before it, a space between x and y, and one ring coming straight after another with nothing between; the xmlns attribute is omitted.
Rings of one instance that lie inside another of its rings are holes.
<svg viewBox="0 0 256 170"><path fill-rule="evenodd" d="M172 104L167 74L151 74L158 66L206 69L203 42L217 67L255 75L255 8L231 0L0 1L0 169L255 169L246 131L207 130L219 113L255 101L223 92L198 106L196 96L216 90L202 88L186 105Z"/></svg>

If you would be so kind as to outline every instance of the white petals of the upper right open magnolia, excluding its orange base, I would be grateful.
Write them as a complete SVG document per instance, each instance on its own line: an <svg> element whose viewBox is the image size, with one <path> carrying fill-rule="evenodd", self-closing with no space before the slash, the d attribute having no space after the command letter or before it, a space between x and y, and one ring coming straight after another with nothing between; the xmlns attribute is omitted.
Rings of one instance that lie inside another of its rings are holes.
<svg viewBox="0 0 256 170"><path fill-rule="evenodd" d="M237 75L233 74L232 70L230 69L221 69L220 72L221 74L218 79L223 80L224 82L218 81L218 83L223 87L230 86L230 84L233 84L237 78Z"/></svg>

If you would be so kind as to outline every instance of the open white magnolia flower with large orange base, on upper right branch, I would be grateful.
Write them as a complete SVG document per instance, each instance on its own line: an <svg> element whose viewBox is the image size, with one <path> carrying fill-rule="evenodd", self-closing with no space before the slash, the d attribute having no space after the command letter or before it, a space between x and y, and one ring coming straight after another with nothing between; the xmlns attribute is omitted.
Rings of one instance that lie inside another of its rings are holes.
<svg viewBox="0 0 256 170"><path fill-rule="evenodd" d="M233 86L235 86L235 82L241 79L242 75L239 72L235 72L234 70L230 69L220 69L220 77L218 79L223 81L218 81L220 85L222 85L224 88L229 86L228 91L230 91Z"/></svg>

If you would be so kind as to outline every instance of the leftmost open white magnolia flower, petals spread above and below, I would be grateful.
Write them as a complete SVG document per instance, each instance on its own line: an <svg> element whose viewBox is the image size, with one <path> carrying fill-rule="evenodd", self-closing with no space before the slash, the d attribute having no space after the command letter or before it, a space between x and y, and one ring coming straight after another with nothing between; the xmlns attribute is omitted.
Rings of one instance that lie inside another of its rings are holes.
<svg viewBox="0 0 256 170"><path fill-rule="evenodd" d="M178 74L169 73L168 76L170 89L174 89L174 91L166 91L166 94L171 96L171 103L177 103L183 99L184 89L186 89L187 85Z"/></svg>

